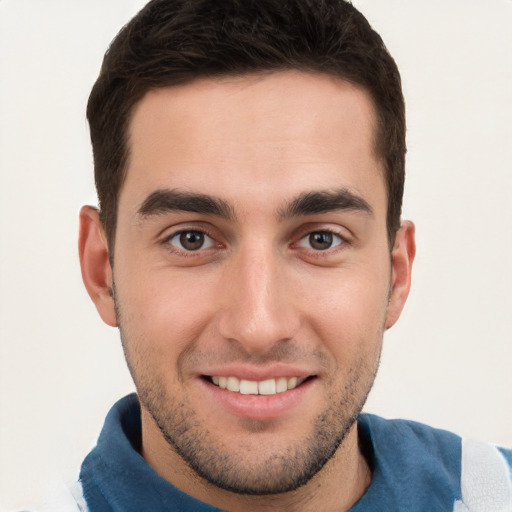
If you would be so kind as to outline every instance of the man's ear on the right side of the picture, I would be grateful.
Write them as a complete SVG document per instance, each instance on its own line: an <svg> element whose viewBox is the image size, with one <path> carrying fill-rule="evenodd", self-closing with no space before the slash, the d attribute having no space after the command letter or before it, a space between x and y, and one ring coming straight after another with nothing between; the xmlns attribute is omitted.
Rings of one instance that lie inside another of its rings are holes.
<svg viewBox="0 0 512 512"><path fill-rule="evenodd" d="M389 295L386 329L398 320L411 287L412 262L416 254L414 224L402 222L391 253L391 291Z"/></svg>

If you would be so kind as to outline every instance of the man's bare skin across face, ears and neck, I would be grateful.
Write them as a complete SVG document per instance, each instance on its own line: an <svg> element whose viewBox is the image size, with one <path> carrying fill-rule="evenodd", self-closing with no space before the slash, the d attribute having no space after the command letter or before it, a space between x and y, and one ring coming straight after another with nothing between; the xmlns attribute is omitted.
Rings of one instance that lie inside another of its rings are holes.
<svg viewBox="0 0 512 512"><path fill-rule="evenodd" d="M97 211L81 211L84 282L120 327L143 456L198 499L230 511L347 510L370 484L354 418L415 252L410 222L389 247L375 126L363 90L320 74L151 91L130 124L113 271ZM300 202L340 192L348 203L326 211ZM218 209L184 211L200 210L198 195ZM199 248L183 246L184 232ZM259 416L238 402L233 412L219 398L232 392L205 379L279 371L310 378L269 417L257 396L244 403Z"/></svg>

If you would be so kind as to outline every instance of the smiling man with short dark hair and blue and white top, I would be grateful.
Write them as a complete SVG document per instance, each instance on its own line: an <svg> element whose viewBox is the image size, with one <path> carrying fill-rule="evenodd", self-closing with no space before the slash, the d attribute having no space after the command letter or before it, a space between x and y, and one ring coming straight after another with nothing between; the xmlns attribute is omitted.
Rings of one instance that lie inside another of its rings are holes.
<svg viewBox="0 0 512 512"><path fill-rule="evenodd" d="M80 259L137 397L80 474L106 510L509 510L510 451L360 415L410 287L405 116L341 0L153 0L88 118Z"/></svg>

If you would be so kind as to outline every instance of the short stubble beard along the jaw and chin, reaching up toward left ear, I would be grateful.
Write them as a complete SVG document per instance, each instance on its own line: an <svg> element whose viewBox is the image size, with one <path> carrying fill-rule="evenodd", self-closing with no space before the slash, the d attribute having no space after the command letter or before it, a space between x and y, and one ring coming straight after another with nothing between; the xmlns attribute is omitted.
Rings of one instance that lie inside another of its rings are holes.
<svg viewBox="0 0 512 512"><path fill-rule="evenodd" d="M138 357L136 361L132 357L133 345L127 343L117 305L116 312L123 350L141 406L149 412L167 443L197 475L217 488L240 495L282 494L309 482L334 456L354 425L379 364L380 350L372 367L361 358L351 369L348 382L331 392L328 405L312 420L311 433L305 439L288 446L282 443L280 451L270 450L271 454L263 458L252 458L247 450L234 450L233 446L219 442L190 404L171 396L164 380L158 379L151 368L142 367L140 363L145 358ZM137 340L130 341L137 345ZM258 430L265 431L265 426L258 423L252 424L254 436L258 436ZM286 436L286 432L281 436Z"/></svg>

